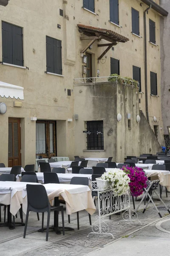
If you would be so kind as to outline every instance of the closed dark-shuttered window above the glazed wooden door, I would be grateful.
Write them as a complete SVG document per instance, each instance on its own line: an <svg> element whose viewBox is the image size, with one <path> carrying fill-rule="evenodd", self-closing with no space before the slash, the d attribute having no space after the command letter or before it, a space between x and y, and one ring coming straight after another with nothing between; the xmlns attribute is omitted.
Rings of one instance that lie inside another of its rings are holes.
<svg viewBox="0 0 170 256"><path fill-rule="evenodd" d="M47 72L62 75L61 41L46 36Z"/></svg>

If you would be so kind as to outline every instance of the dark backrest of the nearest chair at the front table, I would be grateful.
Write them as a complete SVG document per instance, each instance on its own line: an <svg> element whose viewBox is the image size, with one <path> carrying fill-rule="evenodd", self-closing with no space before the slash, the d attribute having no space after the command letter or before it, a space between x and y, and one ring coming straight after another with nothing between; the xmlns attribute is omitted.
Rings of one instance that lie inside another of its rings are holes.
<svg viewBox="0 0 170 256"><path fill-rule="evenodd" d="M26 188L29 208L48 209L50 203L44 186L27 184Z"/></svg>

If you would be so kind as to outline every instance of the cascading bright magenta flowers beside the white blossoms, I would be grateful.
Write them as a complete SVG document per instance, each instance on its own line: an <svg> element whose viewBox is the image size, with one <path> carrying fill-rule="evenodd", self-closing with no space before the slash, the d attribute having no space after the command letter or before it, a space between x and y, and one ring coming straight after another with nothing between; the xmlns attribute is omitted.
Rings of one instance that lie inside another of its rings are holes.
<svg viewBox="0 0 170 256"><path fill-rule="evenodd" d="M131 195L137 197L142 195L143 189L147 187L147 176L142 168L123 166L123 172L130 178Z"/></svg>

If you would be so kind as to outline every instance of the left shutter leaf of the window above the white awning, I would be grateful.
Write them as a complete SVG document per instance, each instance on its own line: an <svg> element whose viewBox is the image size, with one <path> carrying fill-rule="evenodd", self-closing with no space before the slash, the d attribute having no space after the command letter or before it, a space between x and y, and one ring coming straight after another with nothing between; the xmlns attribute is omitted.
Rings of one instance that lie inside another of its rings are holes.
<svg viewBox="0 0 170 256"><path fill-rule="evenodd" d="M12 25L2 22L3 62L12 64Z"/></svg>

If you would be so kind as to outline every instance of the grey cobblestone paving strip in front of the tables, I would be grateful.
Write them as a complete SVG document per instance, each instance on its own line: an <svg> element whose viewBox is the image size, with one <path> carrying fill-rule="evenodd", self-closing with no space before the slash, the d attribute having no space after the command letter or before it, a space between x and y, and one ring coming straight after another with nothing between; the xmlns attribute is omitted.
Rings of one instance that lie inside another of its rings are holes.
<svg viewBox="0 0 170 256"><path fill-rule="evenodd" d="M166 202L167 207L170 207L170 200L165 199L164 201ZM157 202L157 205L163 217L169 215L161 203ZM142 211L139 211L138 217L143 225L160 220L154 207L148 208L144 214ZM109 220L108 217L105 217L105 221L109 226L109 232L111 232L116 239L126 236L131 232L135 232L142 227L137 224L132 224L131 222L121 222L118 224L118 221L121 219L122 216L117 215L112 215L111 220ZM70 232L70 235L67 236L67 238L60 236L61 239L57 241L45 243L44 246L26 251L23 254L18 254L18 256L85 256L86 254L114 241L111 236L106 235L92 234L87 237L90 232L91 227L82 231L77 231L74 234L71 234Z"/></svg>

